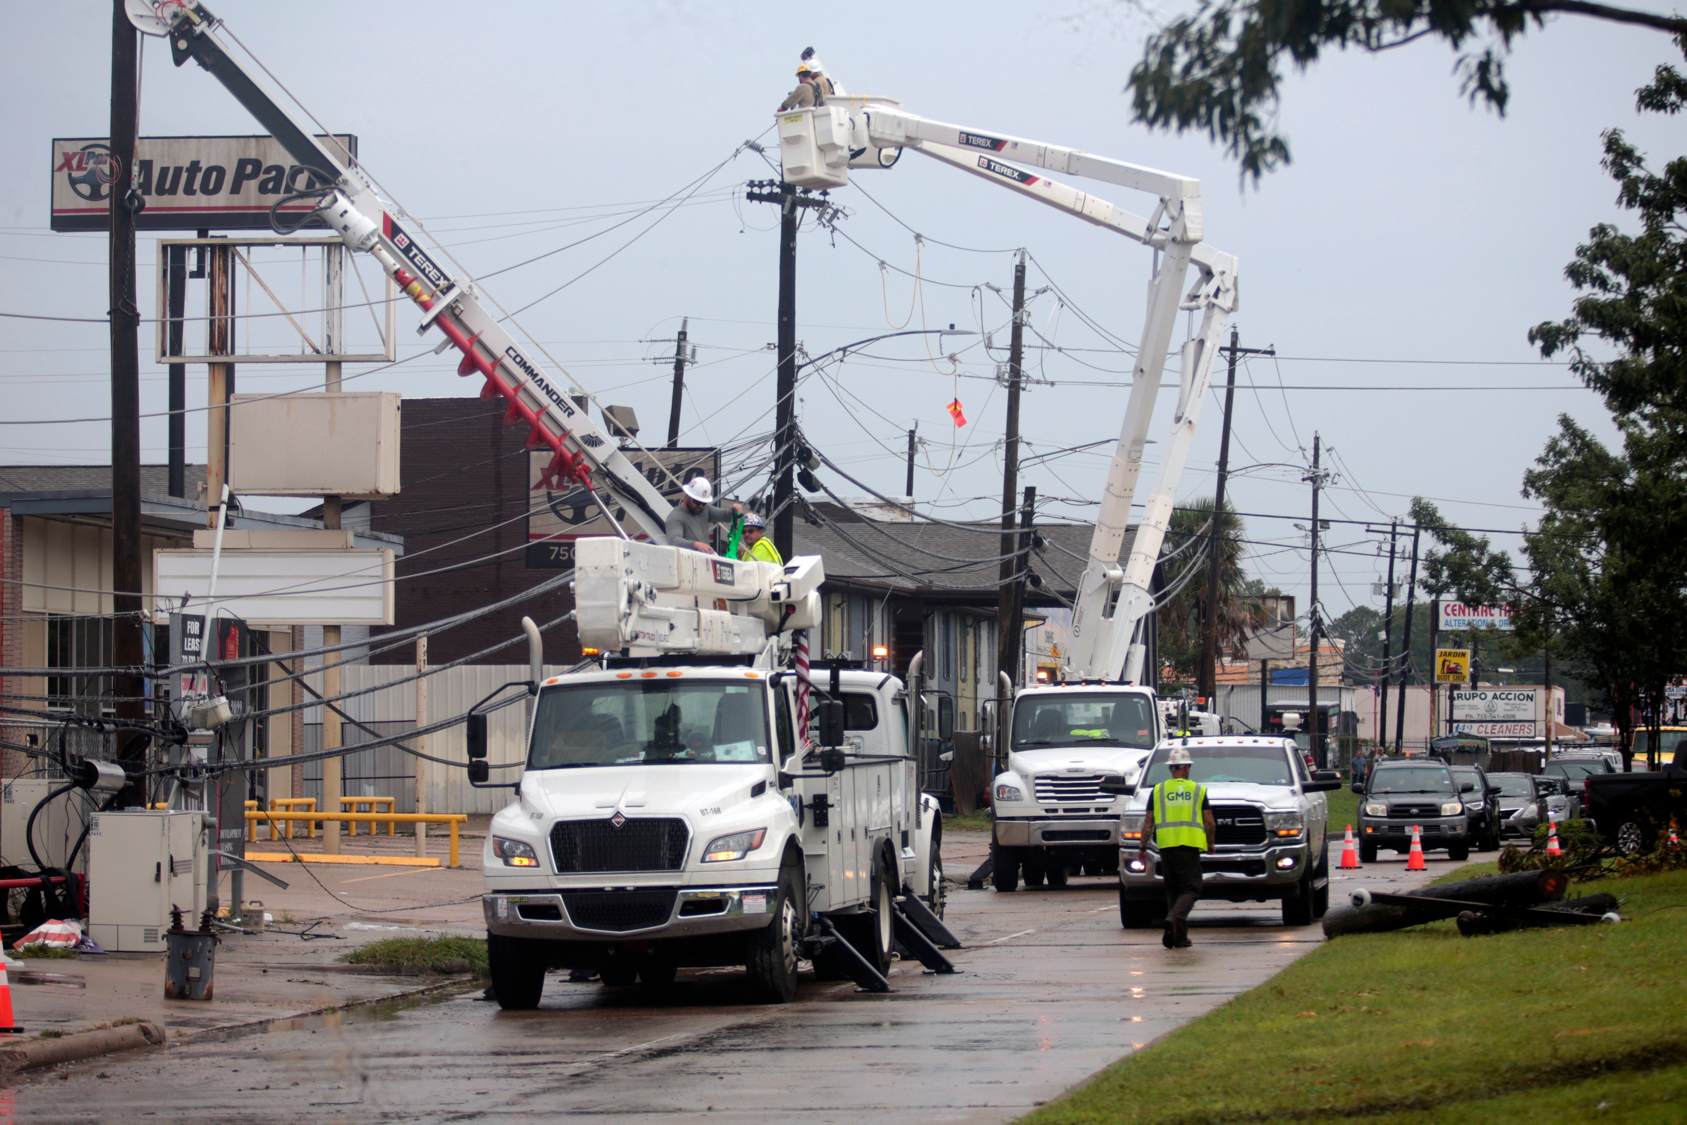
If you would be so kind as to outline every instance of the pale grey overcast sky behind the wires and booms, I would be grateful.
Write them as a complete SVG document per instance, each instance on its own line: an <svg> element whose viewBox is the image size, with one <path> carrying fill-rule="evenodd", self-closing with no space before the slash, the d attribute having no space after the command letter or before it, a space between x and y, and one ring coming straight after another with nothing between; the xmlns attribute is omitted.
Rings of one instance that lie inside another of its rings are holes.
<svg viewBox="0 0 1687 1125"><path fill-rule="evenodd" d="M1301 476L1314 432L1338 472L1326 518L1383 521L1422 494L1466 526L1501 530L1532 519L1520 476L1559 413L1613 432L1598 398L1562 364L1540 363L1525 332L1569 310L1562 270L1587 229L1630 224L1599 169L1599 133L1623 128L1658 164L1682 152L1682 121L1643 118L1633 98L1670 61L1668 40L1572 17L1518 40L1503 120L1466 105L1454 56L1436 40L1319 62L1285 88L1294 164L1253 191L1205 137L1130 125L1122 88L1151 22L1118 5L223 0L214 12L327 126L358 135L371 172L467 272L484 277L599 234L486 288L509 309L543 299L521 324L601 401L633 405L649 444L665 439L670 395L668 368L653 359L671 347L648 341L671 339L680 317L692 317L700 359L682 442L771 430L778 221L773 207L744 202L742 187L773 169L734 152L746 138L769 142L805 46L850 93L1201 177L1206 241L1242 263L1242 344L1279 353L1238 376L1232 464L1264 466L1230 486L1235 506L1253 513L1247 565L1302 602L1307 557L1292 521L1307 518ZM37 5L13 20L0 52L13 105L0 120L0 312L100 317L105 238L51 233L47 191L51 140L106 132L110 8ZM194 66L175 71L164 44L148 40L140 132L260 130L214 79ZM1085 187L1152 209L1124 189ZM648 209L663 199L685 206ZM999 509L1005 391L990 376L1005 359L1004 295L1019 246L1032 255L1029 288L1058 287L1032 302L1039 347L1027 368L1054 385L1026 395L1024 455L1117 437L1117 385L1130 369L1118 341L1134 347L1140 332L1144 248L911 153L889 172L859 174L835 201L847 213L837 236L805 226L800 240L798 339L810 354L948 324L990 332L997 353L987 356L980 336L950 337L941 351L960 353L951 373L911 337L805 379L801 423L833 460L901 493L906 428L918 423L916 499L951 516ZM140 245L147 315L159 236ZM398 317L400 356L423 351L415 314ZM142 408L154 413L165 406L165 373L145 359L150 347L143 326ZM108 413L101 324L0 319L0 417ZM423 356L346 390L477 393L454 369L449 358ZM312 381L319 368L240 369L243 391ZM945 410L957 396L962 428ZM1161 396L1161 415L1172 400ZM202 403L197 368L189 405ZM194 460L204 455L202 418L189 422ZM1220 418L1215 395L1179 498L1211 494ZM1164 425L1157 418L1151 437ZM165 459L162 418L143 422L142 444L145 460ZM0 427L0 464L89 464L106 450L103 423ZM1041 518L1091 518L1108 454L1100 445L1029 467L1022 484L1056 501ZM1145 476L1139 501L1147 486ZM1380 606L1366 538L1361 526L1329 535L1353 552L1324 567L1331 617Z"/></svg>

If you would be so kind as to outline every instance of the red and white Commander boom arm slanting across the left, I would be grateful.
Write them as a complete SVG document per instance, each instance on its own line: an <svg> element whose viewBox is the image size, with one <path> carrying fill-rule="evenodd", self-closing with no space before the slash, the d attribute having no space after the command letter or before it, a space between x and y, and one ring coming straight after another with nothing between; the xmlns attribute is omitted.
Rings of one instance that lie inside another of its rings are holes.
<svg viewBox="0 0 1687 1125"><path fill-rule="evenodd" d="M321 214L353 251L366 251L422 307L417 332L439 329L462 353L457 374L486 378L481 398L501 396L509 403L504 425L531 427L528 449L552 450L540 481L543 487L584 486L599 508L616 519L616 509L638 525L638 531L666 541L663 521L670 504L634 467L619 445L592 422L590 415L557 388L550 376L521 349L476 299L474 287L454 280L388 213L375 187L356 167L314 137L287 108L258 84L240 59L216 37L218 19L197 0L127 0L130 22L148 35L170 40L175 66L187 59L209 71L246 110L263 123L283 148L305 169L315 169L322 186ZM607 494L607 496L606 496Z"/></svg>

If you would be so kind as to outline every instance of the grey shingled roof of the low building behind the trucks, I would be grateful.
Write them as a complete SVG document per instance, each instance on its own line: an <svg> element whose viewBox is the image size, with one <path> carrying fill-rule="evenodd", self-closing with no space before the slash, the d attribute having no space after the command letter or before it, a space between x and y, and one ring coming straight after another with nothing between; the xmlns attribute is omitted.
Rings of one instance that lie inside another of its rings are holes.
<svg viewBox="0 0 1687 1125"><path fill-rule="evenodd" d="M830 506L828 506L830 508ZM832 516L830 511L823 518ZM1044 546L1031 555L1031 570L1070 599L1088 558L1091 525L1049 523L1036 533ZM1135 530L1125 533L1129 553ZM995 523L879 523L832 518L820 526L798 519L798 555L823 555L827 579L877 585L906 594L989 595L1000 585L1000 525ZM1041 600L1036 587L1031 600Z"/></svg>

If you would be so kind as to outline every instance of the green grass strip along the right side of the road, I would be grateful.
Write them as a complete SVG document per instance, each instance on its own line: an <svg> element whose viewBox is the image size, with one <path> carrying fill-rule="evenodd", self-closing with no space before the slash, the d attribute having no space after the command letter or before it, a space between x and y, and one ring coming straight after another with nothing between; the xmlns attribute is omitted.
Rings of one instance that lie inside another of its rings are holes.
<svg viewBox="0 0 1687 1125"><path fill-rule="evenodd" d="M1024 1120L1680 1122L1687 872L1572 894L1594 891L1633 921L1488 938L1449 921L1331 941Z"/></svg>

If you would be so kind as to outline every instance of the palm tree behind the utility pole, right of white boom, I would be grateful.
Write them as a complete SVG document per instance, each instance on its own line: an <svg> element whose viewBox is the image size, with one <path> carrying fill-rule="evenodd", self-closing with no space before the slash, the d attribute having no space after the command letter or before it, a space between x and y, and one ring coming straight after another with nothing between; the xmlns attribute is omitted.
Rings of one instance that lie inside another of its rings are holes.
<svg viewBox="0 0 1687 1125"><path fill-rule="evenodd" d="M1172 509L1166 531L1161 580L1176 590L1159 611L1161 665L1179 680L1194 680L1201 665L1201 627L1208 611L1206 563L1211 558L1213 498ZM1242 572L1242 518L1225 503L1218 521L1218 648L1240 649L1265 621L1259 582ZM1183 548L1183 553L1178 553ZM1199 573L1191 573L1198 570ZM1188 579L1179 587L1179 580Z"/></svg>

